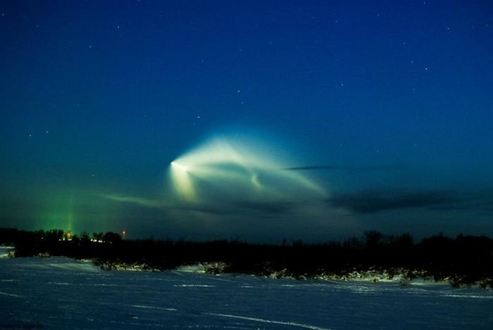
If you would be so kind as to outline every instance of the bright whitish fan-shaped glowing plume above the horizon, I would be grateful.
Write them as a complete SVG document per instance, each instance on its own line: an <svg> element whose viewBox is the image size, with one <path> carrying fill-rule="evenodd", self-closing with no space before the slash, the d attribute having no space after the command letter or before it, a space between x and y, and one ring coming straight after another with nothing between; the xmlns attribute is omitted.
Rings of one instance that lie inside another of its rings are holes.
<svg viewBox="0 0 493 330"><path fill-rule="evenodd" d="M304 174L283 170L265 142L211 139L170 164L175 192L187 203L270 203L327 197Z"/></svg>

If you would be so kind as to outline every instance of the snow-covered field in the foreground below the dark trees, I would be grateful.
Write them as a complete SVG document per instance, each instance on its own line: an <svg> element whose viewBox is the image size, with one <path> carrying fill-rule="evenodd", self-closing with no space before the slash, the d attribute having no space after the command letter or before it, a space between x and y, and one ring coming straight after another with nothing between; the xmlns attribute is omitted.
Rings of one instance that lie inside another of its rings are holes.
<svg viewBox="0 0 493 330"><path fill-rule="evenodd" d="M6 256L5 248L0 255ZM493 292L480 288L103 271L68 258L0 258L0 307L0 329L492 329L493 324Z"/></svg>

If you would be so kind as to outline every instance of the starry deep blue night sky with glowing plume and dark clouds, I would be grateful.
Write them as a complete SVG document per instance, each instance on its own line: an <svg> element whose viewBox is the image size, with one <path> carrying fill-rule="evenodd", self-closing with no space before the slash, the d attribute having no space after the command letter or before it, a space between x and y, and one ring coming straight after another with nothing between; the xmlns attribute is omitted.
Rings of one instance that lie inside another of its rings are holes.
<svg viewBox="0 0 493 330"><path fill-rule="evenodd" d="M493 235L490 1L4 0L0 72L0 227Z"/></svg>

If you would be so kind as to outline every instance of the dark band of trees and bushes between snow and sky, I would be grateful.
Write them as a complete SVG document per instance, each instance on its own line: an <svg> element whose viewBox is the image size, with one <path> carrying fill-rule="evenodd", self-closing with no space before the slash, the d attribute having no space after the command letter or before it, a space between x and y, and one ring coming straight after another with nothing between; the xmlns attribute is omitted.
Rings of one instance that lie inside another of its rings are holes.
<svg viewBox="0 0 493 330"><path fill-rule="evenodd" d="M409 234L385 236L366 231L361 238L342 242L283 241L282 245L272 245L237 240L123 240L112 232L92 236L82 233L68 239L61 230L0 229L0 243L15 245L16 257L64 255L90 258L101 265L138 264L165 270L221 262L221 272L266 276L279 273L300 279L375 271L386 272L389 277L404 274L408 279L425 277L447 280L456 286L480 283L493 288L493 240L487 236L459 235L451 239L439 234L416 243Z"/></svg>

